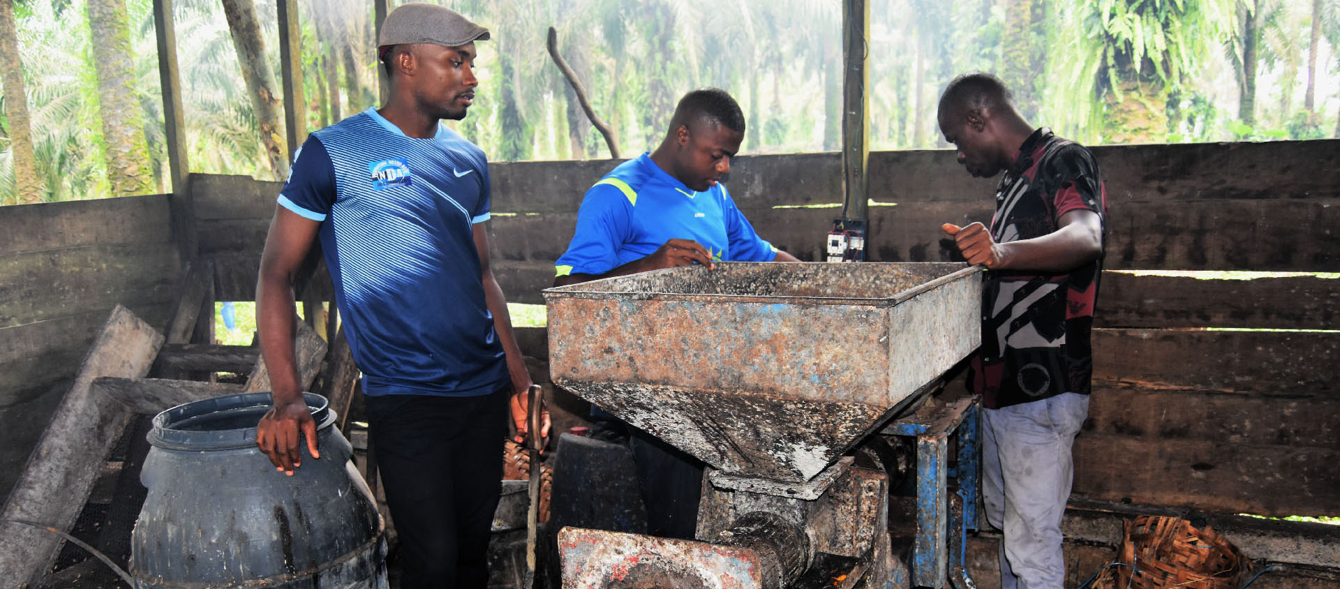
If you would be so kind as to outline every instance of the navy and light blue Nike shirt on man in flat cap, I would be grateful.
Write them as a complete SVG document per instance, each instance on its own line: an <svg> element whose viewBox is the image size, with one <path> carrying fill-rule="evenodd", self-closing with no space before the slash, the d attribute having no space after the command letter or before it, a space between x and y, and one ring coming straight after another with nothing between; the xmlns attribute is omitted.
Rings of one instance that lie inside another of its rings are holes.
<svg viewBox="0 0 1340 589"><path fill-rule="evenodd" d="M279 195L322 221L335 300L367 395L486 395L508 382L473 225L484 151L438 126L415 139L368 108L314 133Z"/></svg>

